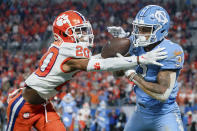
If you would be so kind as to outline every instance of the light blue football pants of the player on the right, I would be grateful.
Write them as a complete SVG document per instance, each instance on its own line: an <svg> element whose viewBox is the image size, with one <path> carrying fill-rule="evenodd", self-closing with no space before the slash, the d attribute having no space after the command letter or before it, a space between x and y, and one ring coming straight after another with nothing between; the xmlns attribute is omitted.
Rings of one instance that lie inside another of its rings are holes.
<svg viewBox="0 0 197 131"><path fill-rule="evenodd" d="M184 131L179 111L152 115L135 111L129 118L124 131Z"/></svg>

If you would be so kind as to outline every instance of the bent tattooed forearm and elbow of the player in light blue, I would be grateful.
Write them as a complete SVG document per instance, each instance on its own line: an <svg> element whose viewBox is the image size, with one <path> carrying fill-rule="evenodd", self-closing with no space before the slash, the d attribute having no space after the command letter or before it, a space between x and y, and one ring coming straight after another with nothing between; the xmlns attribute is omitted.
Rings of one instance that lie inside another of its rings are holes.
<svg viewBox="0 0 197 131"><path fill-rule="evenodd" d="M168 70L158 73L156 83L145 81L142 76L136 74L133 70L127 71L125 75L145 93L160 101L168 99L176 81L176 72Z"/></svg>

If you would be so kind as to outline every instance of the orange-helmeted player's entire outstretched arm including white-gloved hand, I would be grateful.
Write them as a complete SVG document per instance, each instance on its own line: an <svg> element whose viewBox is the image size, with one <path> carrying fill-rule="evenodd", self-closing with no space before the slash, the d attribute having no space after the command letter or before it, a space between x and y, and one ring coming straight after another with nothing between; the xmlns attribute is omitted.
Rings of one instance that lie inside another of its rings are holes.
<svg viewBox="0 0 197 131"><path fill-rule="evenodd" d="M133 68L139 63L162 66L157 60L166 58L165 48L158 48L142 56L113 57L107 59L71 59L63 65L64 71L117 71Z"/></svg>

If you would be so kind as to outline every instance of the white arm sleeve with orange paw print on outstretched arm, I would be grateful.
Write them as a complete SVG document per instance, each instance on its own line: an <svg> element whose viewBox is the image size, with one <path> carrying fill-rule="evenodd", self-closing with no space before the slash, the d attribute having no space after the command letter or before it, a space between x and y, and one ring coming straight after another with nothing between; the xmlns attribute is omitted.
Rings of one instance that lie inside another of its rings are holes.
<svg viewBox="0 0 197 131"><path fill-rule="evenodd" d="M87 71L117 71L129 69L136 65L136 56L90 59L88 62Z"/></svg>

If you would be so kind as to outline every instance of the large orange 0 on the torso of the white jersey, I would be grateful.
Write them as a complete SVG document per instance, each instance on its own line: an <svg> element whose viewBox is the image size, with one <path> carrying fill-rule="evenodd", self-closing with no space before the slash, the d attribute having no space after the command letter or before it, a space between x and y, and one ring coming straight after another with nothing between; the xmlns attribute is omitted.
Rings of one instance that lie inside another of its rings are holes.
<svg viewBox="0 0 197 131"><path fill-rule="evenodd" d="M45 55L41 58L39 67L36 70L35 74L39 77L45 77L51 71L57 56L59 53L59 49L56 47L51 47Z"/></svg>

